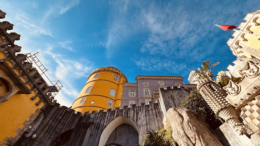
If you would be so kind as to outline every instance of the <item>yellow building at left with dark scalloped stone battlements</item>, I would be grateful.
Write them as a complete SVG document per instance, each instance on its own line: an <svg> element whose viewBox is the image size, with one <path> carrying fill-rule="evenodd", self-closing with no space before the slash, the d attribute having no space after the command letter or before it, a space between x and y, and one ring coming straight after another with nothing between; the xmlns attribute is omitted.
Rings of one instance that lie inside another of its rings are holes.
<svg viewBox="0 0 260 146"><path fill-rule="evenodd" d="M0 19L5 15L0 10ZM35 54L18 54L21 47L14 42L20 35L6 32L12 26L0 22L0 140L10 137L14 142L34 125L33 121L52 103L54 92L60 88L49 86L42 78L44 73L32 66L29 58L36 57Z"/></svg>

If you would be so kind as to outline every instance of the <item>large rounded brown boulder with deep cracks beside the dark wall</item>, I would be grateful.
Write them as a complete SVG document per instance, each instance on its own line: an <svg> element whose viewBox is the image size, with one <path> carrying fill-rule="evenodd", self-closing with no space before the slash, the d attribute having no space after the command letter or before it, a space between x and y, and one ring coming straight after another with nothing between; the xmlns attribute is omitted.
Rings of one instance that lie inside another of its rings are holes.
<svg viewBox="0 0 260 146"><path fill-rule="evenodd" d="M170 108L167 118L172 127L172 136L179 145L222 145L207 123L187 109Z"/></svg>

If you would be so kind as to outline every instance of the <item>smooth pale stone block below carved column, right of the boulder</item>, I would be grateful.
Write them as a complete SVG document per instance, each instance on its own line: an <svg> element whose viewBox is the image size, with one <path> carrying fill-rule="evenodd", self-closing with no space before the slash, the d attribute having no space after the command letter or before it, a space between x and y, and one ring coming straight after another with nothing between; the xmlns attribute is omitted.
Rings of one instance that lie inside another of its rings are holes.
<svg viewBox="0 0 260 146"><path fill-rule="evenodd" d="M220 142L225 146L254 146L246 135L238 135L232 126L224 123L215 130Z"/></svg>

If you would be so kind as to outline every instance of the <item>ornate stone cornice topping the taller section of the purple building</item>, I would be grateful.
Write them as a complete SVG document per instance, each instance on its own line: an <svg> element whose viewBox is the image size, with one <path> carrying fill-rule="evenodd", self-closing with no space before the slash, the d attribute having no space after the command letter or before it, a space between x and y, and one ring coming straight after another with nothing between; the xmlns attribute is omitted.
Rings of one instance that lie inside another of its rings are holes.
<svg viewBox="0 0 260 146"><path fill-rule="evenodd" d="M148 80L182 80L181 76L158 76L158 75L138 75L135 80L148 79Z"/></svg>

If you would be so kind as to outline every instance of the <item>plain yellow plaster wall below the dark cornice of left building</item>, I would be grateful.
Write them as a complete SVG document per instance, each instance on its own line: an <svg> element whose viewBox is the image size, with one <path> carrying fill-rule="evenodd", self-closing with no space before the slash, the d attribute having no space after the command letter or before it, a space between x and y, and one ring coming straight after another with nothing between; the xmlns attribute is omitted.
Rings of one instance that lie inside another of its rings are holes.
<svg viewBox="0 0 260 146"><path fill-rule="evenodd" d="M44 102L39 106L35 103L40 99L36 97L35 100L30 98L35 95L35 91L31 94L14 94L7 101L0 103L0 139L5 137L15 137L15 131L18 128L23 128L23 122L30 120L29 115L34 114L37 108L41 108ZM4 120L2 120L4 119Z"/></svg>

